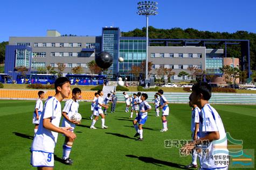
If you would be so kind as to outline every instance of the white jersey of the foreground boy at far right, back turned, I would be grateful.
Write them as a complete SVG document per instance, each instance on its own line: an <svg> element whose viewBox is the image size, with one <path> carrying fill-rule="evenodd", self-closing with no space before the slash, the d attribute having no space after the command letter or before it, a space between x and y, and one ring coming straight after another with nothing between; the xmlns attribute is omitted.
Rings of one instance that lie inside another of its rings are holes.
<svg viewBox="0 0 256 170"><path fill-rule="evenodd" d="M208 150L209 155L202 155L202 168L225 168L227 165L215 164L215 161L222 162L229 155L227 150L226 132L218 112L211 107L210 104L205 104L199 112L199 132L200 137L205 137L209 132L218 131L219 140L213 140L209 146L202 145L203 150ZM217 147L220 148L217 148ZM212 159L213 157L213 159ZM225 157L225 158L224 158ZM215 160L215 158L218 158ZM224 158L224 159L223 159Z"/></svg>

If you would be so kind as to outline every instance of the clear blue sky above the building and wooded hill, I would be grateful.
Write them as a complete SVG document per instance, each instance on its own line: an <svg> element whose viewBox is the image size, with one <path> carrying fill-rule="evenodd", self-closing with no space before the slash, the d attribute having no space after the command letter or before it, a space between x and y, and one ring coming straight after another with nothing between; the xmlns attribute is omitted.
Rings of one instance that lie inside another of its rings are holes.
<svg viewBox="0 0 256 170"><path fill-rule="evenodd" d="M8 0L0 3L0 42L9 37L61 34L99 36L104 26L130 31L146 26L135 0ZM191 27L201 31L256 33L255 0L158 0L158 15L149 25L159 29Z"/></svg>

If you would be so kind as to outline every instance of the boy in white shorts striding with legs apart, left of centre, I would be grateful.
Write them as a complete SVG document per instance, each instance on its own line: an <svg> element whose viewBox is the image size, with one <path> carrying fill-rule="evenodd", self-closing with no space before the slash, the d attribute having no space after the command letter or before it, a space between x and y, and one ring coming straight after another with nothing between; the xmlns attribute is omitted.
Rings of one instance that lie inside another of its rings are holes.
<svg viewBox="0 0 256 170"><path fill-rule="evenodd" d="M93 115L95 116L95 118L92 121L92 125L90 126L90 129L97 129L97 128L94 127L94 125L95 125L96 121L98 121L99 115L101 116L101 128L102 129L107 129L108 126L105 126L105 116L104 116L103 111L102 111L101 108L103 107L103 108L108 109L108 105L103 104L103 98L102 98L103 91L98 90L98 94L99 94L99 97L96 100L94 111L93 111Z"/></svg>

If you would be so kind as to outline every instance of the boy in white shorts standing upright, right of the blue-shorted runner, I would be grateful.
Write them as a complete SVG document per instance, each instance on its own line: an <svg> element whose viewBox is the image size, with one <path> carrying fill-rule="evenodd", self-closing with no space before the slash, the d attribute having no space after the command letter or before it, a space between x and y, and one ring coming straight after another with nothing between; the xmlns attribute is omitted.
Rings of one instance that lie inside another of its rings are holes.
<svg viewBox="0 0 256 170"><path fill-rule="evenodd" d="M168 130L167 128L167 116L169 116L169 106L168 101L163 96L163 90L158 90L158 95L160 96L160 105L158 108L162 109L162 123L163 123L163 129L160 130L160 132L166 132Z"/></svg>

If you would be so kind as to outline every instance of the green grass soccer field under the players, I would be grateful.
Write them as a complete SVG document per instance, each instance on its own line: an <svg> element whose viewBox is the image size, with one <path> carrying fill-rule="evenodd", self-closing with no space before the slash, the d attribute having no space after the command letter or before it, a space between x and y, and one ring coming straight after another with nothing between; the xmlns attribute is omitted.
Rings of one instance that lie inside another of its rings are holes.
<svg viewBox="0 0 256 170"><path fill-rule="evenodd" d="M35 101L0 100L0 169L33 169L30 165L30 146L33 139L32 112ZM82 123L74 132L77 139L72 147L74 164L60 162L64 137L59 134L55 147L55 169L180 169L191 157L180 157L177 147L166 148L165 139L190 139L191 111L188 104L169 104L168 131L162 129L161 117L149 112L143 126L143 141L135 141L135 130L125 104L117 103L116 113L106 116L108 129L96 130L91 125L91 103L80 102ZM62 103L64 107L64 102ZM256 105L213 105L222 117L226 132L243 140L243 148L256 147Z"/></svg>

